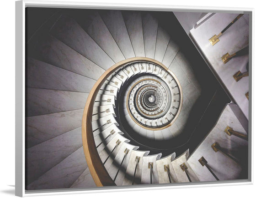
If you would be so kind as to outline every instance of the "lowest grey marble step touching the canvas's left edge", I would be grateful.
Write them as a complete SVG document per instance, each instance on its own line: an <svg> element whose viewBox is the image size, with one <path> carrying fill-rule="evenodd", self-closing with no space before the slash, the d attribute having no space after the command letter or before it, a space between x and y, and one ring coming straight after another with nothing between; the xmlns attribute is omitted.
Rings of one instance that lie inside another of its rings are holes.
<svg viewBox="0 0 256 198"><path fill-rule="evenodd" d="M31 184L80 147L82 147L81 127L78 127L28 148L27 184Z"/></svg>

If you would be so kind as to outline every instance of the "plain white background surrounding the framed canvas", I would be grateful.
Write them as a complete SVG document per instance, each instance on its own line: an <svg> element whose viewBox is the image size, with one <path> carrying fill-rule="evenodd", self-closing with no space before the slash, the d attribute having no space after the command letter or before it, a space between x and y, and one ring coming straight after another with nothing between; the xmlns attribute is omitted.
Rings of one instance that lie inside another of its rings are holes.
<svg viewBox="0 0 256 198"><path fill-rule="evenodd" d="M65 1L65 0L63 0ZM72 0L69 0L72 1ZM85 1L85 0L73 0ZM89 2L118 3L120 0L88 0ZM213 3L214 2L214 3ZM123 0L123 3L158 4L158 5L189 5L189 6L223 6L256 8L253 0ZM15 184L15 0L1 1L0 11L0 196L13 197ZM255 73L254 73L255 76ZM255 86L253 86L255 91ZM250 95L251 96L251 95ZM256 102L254 100L254 102ZM256 121L254 119L254 121ZM255 142L255 138L254 138ZM255 158L255 152L253 152ZM255 167L255 166L254 166ZM165 190L110 192L96 194L57 195L54 198L185 198L185 197L233 197L242 198L255 194L255 185L222 186L204 188L182 188ZM250 197L251 197L250 196ZM255 196L255 195L254 195ZM46 197L46 196L43 196Z"/></svg>

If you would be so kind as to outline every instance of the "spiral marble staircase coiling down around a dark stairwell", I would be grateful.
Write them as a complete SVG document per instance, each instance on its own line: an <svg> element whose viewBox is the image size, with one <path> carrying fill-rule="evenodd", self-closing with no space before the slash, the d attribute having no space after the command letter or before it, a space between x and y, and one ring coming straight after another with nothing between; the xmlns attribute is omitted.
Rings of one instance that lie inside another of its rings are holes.
<svg viewBox="0 0 256 198"><path fill-rule="evenodd" d="M248 178L240 109L173 14L47 17L27 37L27 191Z"/></svg>

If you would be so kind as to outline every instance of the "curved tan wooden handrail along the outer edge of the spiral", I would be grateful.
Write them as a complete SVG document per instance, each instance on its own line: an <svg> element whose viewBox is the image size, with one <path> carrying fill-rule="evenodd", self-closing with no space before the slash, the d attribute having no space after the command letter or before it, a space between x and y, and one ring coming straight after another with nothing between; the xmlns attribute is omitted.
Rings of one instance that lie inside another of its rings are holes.
<svg viewBox="0 0 256 198"><path fill-rule="evenodd" d="M85 159L90 169L91 176L95 184L99 187L115 186L116 184L107 173L107 170L101 161L99 153L97 152L96 144L94 142L91 124L94 102L101 86L107 80L107 78L113 73L113 71L117 70L121 66L124 66L128 63L132 63L134 61L148 61L151 63L156 63L157 65L162 66L166 71L168 71L168 68L166 66L164 66L159 61L156 61L151 58L134 57L120 61L112 67L110 67L101 75L101 77L96 81L95 85L92 87L91 92L89 93L89 96L87 97L87 101L85 103L85 109L82 118L82 141L85 152Z"/></svg>

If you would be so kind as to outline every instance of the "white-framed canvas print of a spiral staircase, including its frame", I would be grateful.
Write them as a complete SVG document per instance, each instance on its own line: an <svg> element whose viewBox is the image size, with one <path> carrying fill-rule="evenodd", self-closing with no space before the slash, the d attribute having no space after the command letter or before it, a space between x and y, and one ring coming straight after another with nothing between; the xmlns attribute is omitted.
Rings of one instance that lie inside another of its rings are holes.
<svg viewBox="0 0 256 198"><path fill-rule="evenodd" d="M251 183L252 9L16 2L16 195Z"/></svg>

